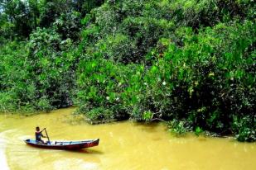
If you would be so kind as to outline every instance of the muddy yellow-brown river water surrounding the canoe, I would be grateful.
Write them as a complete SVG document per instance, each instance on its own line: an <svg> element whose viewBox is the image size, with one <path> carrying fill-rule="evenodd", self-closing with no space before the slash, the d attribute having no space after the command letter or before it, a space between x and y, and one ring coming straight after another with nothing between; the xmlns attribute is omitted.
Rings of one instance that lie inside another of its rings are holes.
<svg viewBox="0 0 256 170"><path fill-rule="evenodd" d="M161 123L124 121L89 125L73 117L74 108L34 116L0 115L0 167L5 169L256 169L256 144L234 139L171 135ZM50 139L96 139L99 146L80 151L36 149L23 139L35 127Z"/></svg>

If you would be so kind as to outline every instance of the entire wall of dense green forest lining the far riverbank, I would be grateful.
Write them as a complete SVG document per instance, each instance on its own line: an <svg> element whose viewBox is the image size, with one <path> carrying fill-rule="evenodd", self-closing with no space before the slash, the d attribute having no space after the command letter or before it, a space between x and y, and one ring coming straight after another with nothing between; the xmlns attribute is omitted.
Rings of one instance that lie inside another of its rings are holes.
<svg viewBox="0 0 256 170"><path fill-rule="evenodd" d="M255 17L250 0L2 0L0 111L255 141Z"/></svg>

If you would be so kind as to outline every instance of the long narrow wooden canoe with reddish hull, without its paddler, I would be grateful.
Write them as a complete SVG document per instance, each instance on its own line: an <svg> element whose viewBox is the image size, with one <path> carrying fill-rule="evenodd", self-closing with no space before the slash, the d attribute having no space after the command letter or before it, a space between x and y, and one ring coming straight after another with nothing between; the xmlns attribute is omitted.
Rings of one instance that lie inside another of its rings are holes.
<svg viewBox="0 0 256 170"><path fill-rule="evenodd" d="M35 139L26 139L24 140L26 144L31 146L42 148L42 149L67 149L67 150L75 150L75 149L84 149L93 146L97 146L99 144L99 139L88 139L82 141L50 141L47 144L39 144L36 143Z"/></svg>

